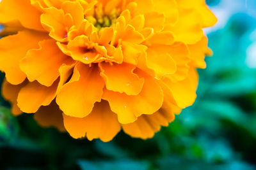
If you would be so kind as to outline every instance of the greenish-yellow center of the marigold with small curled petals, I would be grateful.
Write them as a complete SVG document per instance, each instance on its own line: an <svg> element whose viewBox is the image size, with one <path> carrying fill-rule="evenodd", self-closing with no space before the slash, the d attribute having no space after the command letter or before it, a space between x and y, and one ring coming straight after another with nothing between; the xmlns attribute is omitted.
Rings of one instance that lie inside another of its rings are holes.
<svg viewBox="0 0 256 170"><path fill-rule="evenodd" d="M116 23L116 18L120 15L120 10L112 10L111 13L104 13L102 4L95 6L93 16L87 16L86 19L91 22L97 29L102 27L111 27Z"/></svg>

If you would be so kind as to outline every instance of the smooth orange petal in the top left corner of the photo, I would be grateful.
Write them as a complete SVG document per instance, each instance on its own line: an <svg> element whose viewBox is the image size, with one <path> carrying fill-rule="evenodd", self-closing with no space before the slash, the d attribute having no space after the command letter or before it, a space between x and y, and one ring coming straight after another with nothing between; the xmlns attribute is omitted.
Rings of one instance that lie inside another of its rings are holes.
<svg viewBox="0 0 256 170"><path fill-rule="evenodd" d="M44 31L40 24L40 11L29 0L2 0L0 3L0 23L19 20L28 29Z"/></svg>

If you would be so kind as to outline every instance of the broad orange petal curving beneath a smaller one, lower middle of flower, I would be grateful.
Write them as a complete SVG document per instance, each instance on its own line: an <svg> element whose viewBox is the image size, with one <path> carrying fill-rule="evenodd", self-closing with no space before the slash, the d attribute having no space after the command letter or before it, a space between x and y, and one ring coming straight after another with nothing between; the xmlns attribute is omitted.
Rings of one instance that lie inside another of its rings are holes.
<svg viewBox="0 0 256 170"><path fill-rule="evenodd" d="M104 90L103 99L109 102L110 108L118 115L121 124L134 122L140 115L150 115L163 104L163 92L154 78L136 70L138 76L145 79L143 88L137 96L127 96L110 90ZM152 90L154 89L154 90Z"/></svg>

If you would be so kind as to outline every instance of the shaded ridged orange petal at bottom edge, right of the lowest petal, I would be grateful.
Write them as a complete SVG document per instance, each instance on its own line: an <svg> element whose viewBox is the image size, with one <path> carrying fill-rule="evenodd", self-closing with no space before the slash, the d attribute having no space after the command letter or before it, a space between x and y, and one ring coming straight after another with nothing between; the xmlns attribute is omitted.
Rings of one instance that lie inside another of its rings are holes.
<svg viewBox="0 0 256 170"><path fill-rule="evenodd" d="M141 115L131 124L122 124L122 129L132 138L153 138L154 134L160 131L161 126L168 126L174 117L173 113L168 114L164 110L159 110L152 115Z"/></svg>

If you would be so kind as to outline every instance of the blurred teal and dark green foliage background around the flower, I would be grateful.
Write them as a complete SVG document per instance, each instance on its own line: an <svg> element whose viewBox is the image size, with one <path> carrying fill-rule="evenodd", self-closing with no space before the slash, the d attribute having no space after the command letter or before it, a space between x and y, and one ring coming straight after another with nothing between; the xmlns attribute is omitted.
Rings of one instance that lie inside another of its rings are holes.
<svg viewBox="0 0 256 170"><path fill-rule="evenodd" d="M205 29L214 55L198 70L195 104L169 127L146 141L76 140L12 117L1 97L0 169L256 169L256 1L207 4L219 20Z"/></svg>

